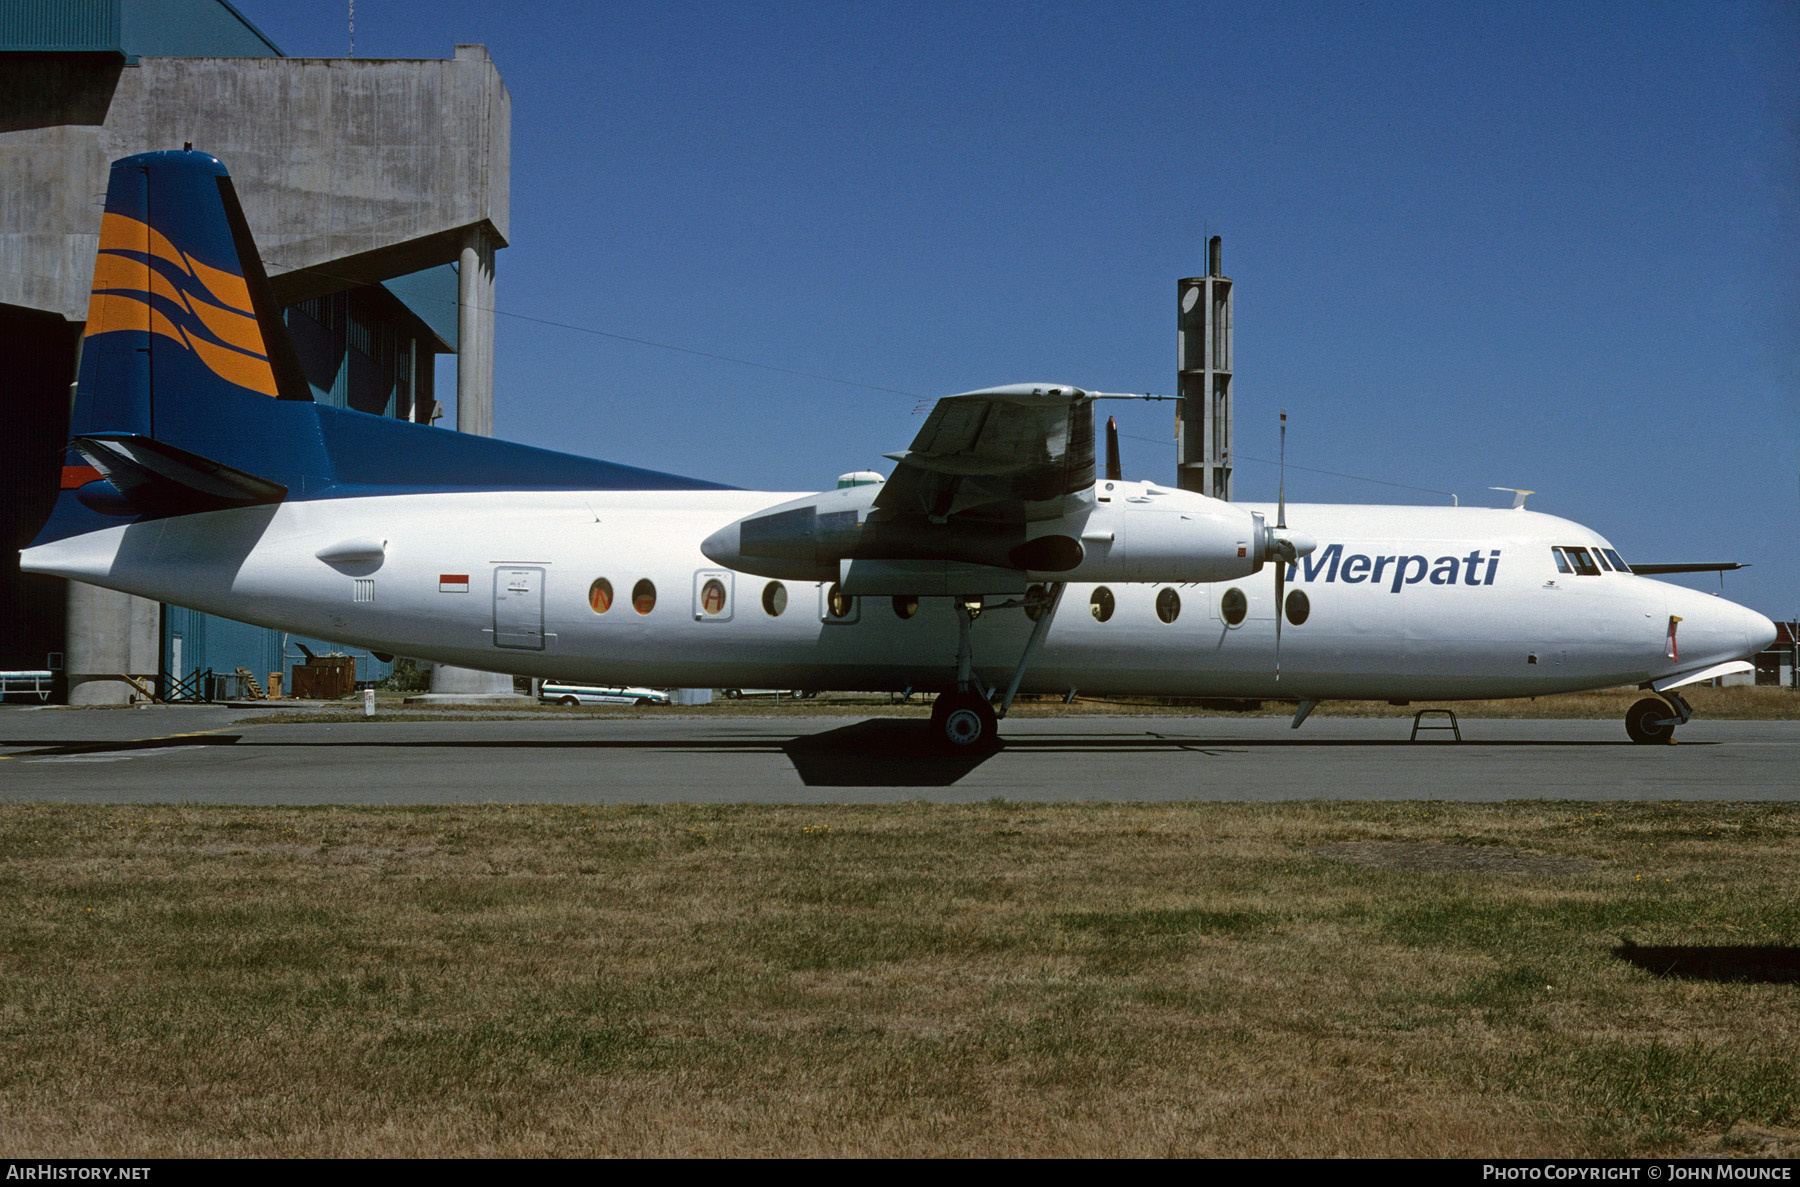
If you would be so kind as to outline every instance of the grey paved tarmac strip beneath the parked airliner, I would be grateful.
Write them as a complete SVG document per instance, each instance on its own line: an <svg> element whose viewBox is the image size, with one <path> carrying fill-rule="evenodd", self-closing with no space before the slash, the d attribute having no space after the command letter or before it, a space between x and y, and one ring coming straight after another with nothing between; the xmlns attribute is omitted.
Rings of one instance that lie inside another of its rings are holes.
<svg viewBox="0 0 1800 1187"><path fill-rule="evenodd" d="M938 757L920 719L295 724L268 710L0 710L0 802L869 803L934 800L1800 800L1800 722L1058 717Z"/></svg>

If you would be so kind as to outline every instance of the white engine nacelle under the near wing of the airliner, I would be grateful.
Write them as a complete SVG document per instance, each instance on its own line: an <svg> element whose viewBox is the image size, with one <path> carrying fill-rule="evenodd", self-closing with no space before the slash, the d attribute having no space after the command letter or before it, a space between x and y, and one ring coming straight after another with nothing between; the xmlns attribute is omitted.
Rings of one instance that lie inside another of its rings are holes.
<svg viewBox="0 0 1800 1187"><path fill-rule="evenodd" d="M880 490L781 503L720 528L700 551L740 573L842 580L857 594L938 593L945 578L934 562L958 575L958 593L972 593L959 589L968 584L1001 593L1021 580L1222 582L1256 573L1269 557L1260 515L1150 483L1096 483L1091 501L1046 519L976 510L945 522L877 508Z"/></svg>

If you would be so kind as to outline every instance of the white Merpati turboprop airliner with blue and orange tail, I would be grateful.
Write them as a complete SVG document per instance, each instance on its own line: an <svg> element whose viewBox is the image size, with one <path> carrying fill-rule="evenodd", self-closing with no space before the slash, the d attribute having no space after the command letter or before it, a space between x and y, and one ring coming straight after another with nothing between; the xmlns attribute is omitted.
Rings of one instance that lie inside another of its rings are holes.
<svg viewBox="0 0 1800 1187"><path fill-rule="evenodd" d="M1075 387L940 400L893 458L747 492L313 403L223 166L144 153L113 166L22 567L470 668L934 692L949 748L992 744L1019 692L1283 699L1300 726L1323 699L1618 684L1660 693L1625 720L1656 742L1678 688L1775 638L1552 515L1096 477Z"/></svg>

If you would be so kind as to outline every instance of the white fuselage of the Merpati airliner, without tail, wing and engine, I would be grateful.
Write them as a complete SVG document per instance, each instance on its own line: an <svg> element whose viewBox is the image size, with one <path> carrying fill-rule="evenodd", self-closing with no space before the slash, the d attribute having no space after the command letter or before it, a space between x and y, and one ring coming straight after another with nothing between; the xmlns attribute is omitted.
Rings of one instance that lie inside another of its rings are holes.
<svg viewBox="0 0 1800 1187"><path fill-rule="evenodd" d="M94 531L40 544L23 562L311 638L522 675L954 686L950 598L920 598L902 618L904 598L862 596L841 600L835 609L848 612L835 614L828 584L770 582L702 555L700 542L722 524L790 497L599 490L290 501ZM1274 519L1274 508L1249 510ZM1309 605L1303 621L1283 623L1280 679L1265 566L1217 584L1069 582L1021 692L1528 697L1642 684L1737 659L1773 634L1766 618L1723 598L1629 573L1559 571L1552 546L1607 544L1552 515L1292 504L1287 519L1318 551L1289 569L1287 589ZM1235 623L1229 591L1242 594ZM1679 620L1674 645L1670 618ZM977 677L1004 686L1030 630L1022 609L981 614Z"/></svg>

